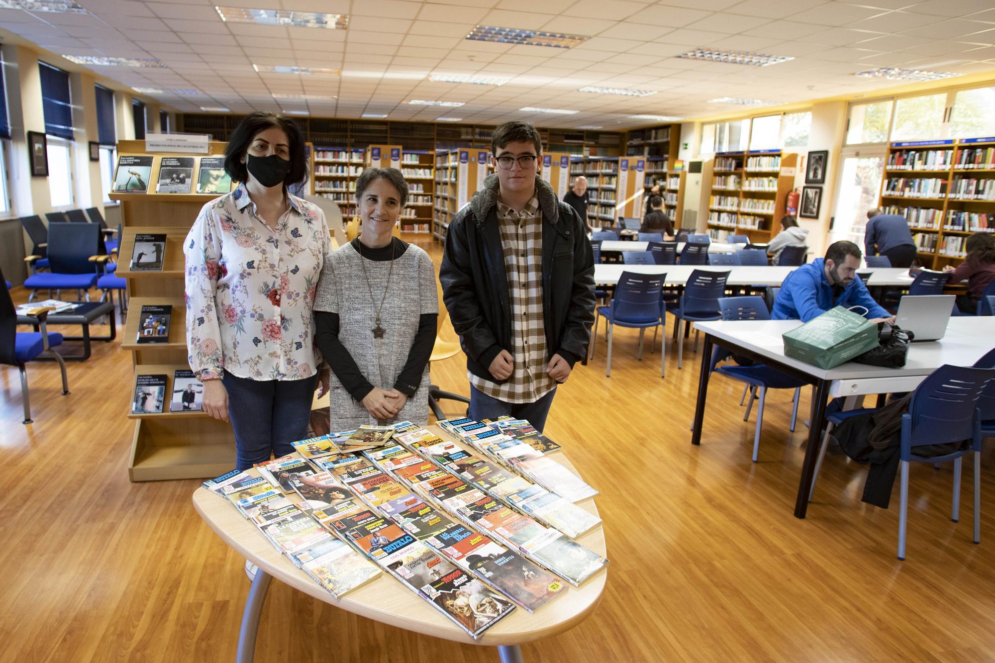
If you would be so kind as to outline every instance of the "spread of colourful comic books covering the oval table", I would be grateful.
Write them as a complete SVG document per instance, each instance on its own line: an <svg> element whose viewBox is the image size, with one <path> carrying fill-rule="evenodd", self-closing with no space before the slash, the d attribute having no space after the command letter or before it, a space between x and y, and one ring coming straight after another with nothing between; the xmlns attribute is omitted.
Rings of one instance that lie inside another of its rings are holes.
<svg viewBox="0 0 995 663"><path fill-rule="evenodd" d="M204 487L335 596L386 573L474 637L605 567L572 541L600 522L574 504L596 491L546 456L555 443L523 420L440 423L459 444L361 426Z"/></svg>

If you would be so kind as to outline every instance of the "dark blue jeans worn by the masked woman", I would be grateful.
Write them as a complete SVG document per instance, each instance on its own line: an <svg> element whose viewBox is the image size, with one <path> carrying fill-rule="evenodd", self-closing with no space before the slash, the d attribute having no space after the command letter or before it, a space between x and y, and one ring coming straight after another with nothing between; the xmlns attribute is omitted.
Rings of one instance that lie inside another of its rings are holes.
<svg viewBox="0 0 995 663"><path fill-rule="evenodd" d="M238 470L286 456L307 435L317 375L302 380L250 380L227 370L228 417L235 429Z"/></svg>

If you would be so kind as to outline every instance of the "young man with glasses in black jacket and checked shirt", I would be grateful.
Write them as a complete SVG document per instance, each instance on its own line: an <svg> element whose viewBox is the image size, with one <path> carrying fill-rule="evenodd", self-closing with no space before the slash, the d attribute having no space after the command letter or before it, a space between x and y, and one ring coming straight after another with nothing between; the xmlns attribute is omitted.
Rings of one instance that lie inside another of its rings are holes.
<svg viewBox="0 0 995 663"><path fill-rule="evenodd" d="M450 223L439 280L467 353L470 417L541 431L590 340L594 256L584 220L538 176L535 127L501 124L491 151L497 172Z"/></svg>

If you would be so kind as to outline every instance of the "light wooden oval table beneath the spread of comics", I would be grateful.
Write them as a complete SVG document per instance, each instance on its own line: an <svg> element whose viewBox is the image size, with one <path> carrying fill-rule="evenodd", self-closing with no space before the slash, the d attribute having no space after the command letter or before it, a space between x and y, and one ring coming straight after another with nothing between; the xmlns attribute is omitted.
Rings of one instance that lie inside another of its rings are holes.
<svg viewBox="0 0 995 663"><path fill-rule="evenodd" d="M428 428L444 439L452 439L436 426ZM576 473L561 451L553 452L549 457ZM343 597L335 598L298 569L287 556L277 552L263 533L243 519L226 500L198 488L193 494L193 506L222 541L259 566L242 615L236 659L239 663L253 660L260 615L273 578L325 603L392 626L456 642L497 646L501 663L520 663L519 644L562 633L590 615L601 599L608 577L606 568L580 587L564 583L566 588L562 594L535 612L529 614L517 607L482 637L474 639L386 571ZM592 514L598 513L593 499L584 500L578 506ZM606 555L601 525L576 541L593 552Z"/></svg>

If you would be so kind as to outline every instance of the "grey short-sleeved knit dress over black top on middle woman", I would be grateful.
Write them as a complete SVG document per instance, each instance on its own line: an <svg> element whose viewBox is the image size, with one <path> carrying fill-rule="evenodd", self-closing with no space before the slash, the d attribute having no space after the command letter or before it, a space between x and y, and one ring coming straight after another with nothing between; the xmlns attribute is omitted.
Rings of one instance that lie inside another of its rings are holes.
<svg viewBox="0 0 995 663"><path fill-rule="evenodd" d="M360 261L365 263L369 287ZM393 271L391 262L394 263ZM380 312L380 326L386 331L383 338L374 338L372 330L376 327L376 312L380 298L384 297L385 286L387 293ZM418 331L419 317L439 313L436 288L432 259L419 247L409 244L404 254L393 261L374 261L361 257L349 243L325 261L314 294L314 311L338 314L338 339L352 355L363 376L373 386L390 390L408 360L408 352ZM375 301L370 299L370 289ZM415 395L408 399L396 418L381 423L428 423L430 384L429 367L426 365ZM332 431L377 423L363 404L349 395L335 377L334 370L329 386Z"/></svg>

